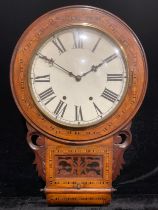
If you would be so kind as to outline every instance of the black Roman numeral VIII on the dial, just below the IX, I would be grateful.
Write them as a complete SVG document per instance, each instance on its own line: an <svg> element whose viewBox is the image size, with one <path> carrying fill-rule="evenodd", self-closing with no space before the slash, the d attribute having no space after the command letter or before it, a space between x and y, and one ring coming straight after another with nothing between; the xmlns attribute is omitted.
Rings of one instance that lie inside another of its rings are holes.
<svg viewBox="0 0 158 210"><path fill-rule="evenodd" d="M56 96L53 96L55 93L52 88L48 88L47 90L43 91L39 94L40 100L45 101L45 105L51 102Z"/></svg>

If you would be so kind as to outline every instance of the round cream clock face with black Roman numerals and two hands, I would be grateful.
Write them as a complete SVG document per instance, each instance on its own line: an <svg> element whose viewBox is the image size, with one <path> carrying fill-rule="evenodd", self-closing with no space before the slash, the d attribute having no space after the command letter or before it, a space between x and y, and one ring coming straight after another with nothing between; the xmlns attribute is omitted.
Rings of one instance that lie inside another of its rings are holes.
<svg viewBox="0 0 158 210"><path fill-rule="evenodd" d="M28 79L34 102L47 118L86 127L107 119L119 107L128 70L120 46L107 34L73 26L39 46Z"/></svg>

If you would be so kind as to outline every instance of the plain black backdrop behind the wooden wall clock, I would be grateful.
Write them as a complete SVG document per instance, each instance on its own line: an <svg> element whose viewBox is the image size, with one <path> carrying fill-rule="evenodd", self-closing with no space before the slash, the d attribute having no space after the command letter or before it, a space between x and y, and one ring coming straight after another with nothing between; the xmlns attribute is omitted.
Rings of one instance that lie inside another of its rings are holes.
<svg viewBox="0 0 158 210"><path fill-rule="evenodd" d="M158 1L157 0L1 0L0 2L0 196L38 196L44 186L32 165L25 120L13 101L9 65L23 31L49 10L84 4L108 10L137 34L149 66L144 103L132 125L133 143L115 181L117 194L158 193Z"/></svg>

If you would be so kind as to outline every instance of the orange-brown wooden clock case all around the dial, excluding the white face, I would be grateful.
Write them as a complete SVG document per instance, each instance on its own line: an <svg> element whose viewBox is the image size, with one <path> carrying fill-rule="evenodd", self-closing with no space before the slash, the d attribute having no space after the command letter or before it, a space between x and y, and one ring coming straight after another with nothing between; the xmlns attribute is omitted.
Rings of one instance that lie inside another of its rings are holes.
<svg viewBox="0 0 158 210"><path fill-rule="evenodd" d="M29 65L39 45L51 34L72 25L94 27L113 38L124 53L129 75L127 93L113 115L95 126L76 129L61 126L42 114L32 99L28 81ZM11 86L17 106L33 127L29 129L32 129L31 132L35 131L35 135L43 135L37 146L30 141L29 144L35 151L37 164L40 165L39 175L44 178L46 174L45 193L48 203L109 203L113 191L112 176L115 179L119 174L124 163L124 149L131 141L130 128L124 130L124 127L138 111L147 86L145 54L131 29L114 15L93 7L73 6L51 11L36 20L19 40L11 62ZM119 130L127 134L125 144L119 142ZM38 150L39 147L43 149L42 152ZM81 156L85 157L84 161ZM95 167L91 167L87 158L94 159L94 156L100 162L95 161ZM67 176L57 175L61 163L58 157L69 158L69 161L64 160L64 164L73 170L70 177L68 172L63 172L63 166L61 173L66 173ZM113 161L117 163L113 164ZM80 176L87 168L94 169L91 176L88 177L88 173L85 177ZM97 177L96 171L99 170L102 172ZM114 170L116 172L112 174Z"/></svg>

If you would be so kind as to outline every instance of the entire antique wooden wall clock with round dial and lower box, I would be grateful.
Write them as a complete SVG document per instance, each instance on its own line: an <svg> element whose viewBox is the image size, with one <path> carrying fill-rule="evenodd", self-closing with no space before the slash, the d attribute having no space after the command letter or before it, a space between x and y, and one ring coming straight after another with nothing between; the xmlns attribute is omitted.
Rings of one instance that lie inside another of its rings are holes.
<svg viewBox="0 0 158 210"><path fill-rule="evenodd" d="M141 44L107 11L59 8L24 32L11 87L49 204L111 201L146 86Z"/></svg>

